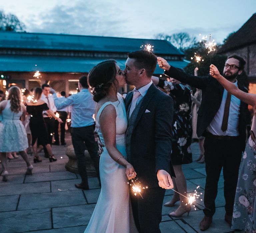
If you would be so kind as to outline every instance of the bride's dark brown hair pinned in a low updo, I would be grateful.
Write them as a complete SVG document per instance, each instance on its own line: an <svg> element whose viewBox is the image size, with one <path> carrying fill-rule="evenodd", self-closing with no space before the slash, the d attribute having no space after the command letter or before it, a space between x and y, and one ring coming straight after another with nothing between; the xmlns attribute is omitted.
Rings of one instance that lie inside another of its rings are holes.
<svg viewBox="0 0 256 233"><path fill-rule="evenodd" d="M99 102L108 93L116 79L116 61L106 60L93 67L88 74L88 83L93 88L93 100Z"/></svg>

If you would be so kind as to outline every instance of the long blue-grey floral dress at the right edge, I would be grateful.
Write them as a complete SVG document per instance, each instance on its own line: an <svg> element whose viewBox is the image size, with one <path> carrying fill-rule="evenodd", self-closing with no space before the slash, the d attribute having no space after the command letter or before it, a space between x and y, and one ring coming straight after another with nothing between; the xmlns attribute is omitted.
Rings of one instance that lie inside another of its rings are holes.
<svg viewBox="0 0 256 233"><path fill-rule="evenodd" d="M250 136L246 144L239 170L233 209L232 229L244 229L246 233L256 233L255 191L256 145Z"/></svg>

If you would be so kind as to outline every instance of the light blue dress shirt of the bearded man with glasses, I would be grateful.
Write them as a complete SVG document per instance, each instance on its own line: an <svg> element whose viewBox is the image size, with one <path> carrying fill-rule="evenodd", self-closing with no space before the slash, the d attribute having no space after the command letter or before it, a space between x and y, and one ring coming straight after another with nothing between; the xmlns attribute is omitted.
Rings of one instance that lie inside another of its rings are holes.
<svg viewBox="0 0 256 233"><path fill-rule="evenodd" d="M234 84L237 86L237 81ZM224 89L220 108L206 130L213 135L218 136L238 136L238 123L241 101L233 95L231 95L231 102L229 107L228 128L226 131L222 131L221 129L227 94L227 90Z"/></svg>

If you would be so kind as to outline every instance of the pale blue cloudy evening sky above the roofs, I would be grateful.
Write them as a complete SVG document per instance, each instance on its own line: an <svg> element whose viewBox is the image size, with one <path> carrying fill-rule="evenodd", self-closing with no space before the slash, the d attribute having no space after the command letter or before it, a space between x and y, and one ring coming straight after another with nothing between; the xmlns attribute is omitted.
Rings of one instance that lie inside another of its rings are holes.
<svg viewBox="0 0 256 233"><path fill-rule="evenodd" d="M212 34L222 42L256 12L256 0L8 0L27 32L153 39L158 33Z"/></svg>

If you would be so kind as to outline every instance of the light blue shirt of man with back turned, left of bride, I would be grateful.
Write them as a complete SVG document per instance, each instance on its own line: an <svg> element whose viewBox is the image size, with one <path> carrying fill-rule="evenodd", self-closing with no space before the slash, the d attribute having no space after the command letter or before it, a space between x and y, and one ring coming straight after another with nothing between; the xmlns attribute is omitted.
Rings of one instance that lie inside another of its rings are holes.
<svg viewBox="0 0 256 233"><path fill-rule="evenodd" d="M55 106L63 109L71 106L71 127L85 127L94 124L93 115L95 114L96 103L93 101L88 89L82 89L77 94L68 98L58 98L53 94Z"/></svg>

